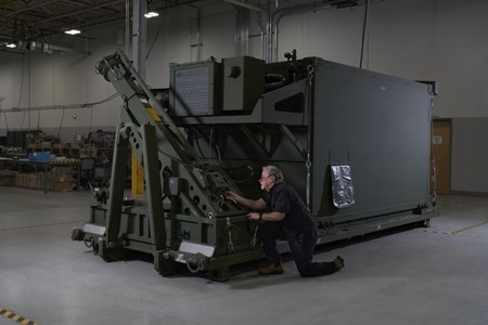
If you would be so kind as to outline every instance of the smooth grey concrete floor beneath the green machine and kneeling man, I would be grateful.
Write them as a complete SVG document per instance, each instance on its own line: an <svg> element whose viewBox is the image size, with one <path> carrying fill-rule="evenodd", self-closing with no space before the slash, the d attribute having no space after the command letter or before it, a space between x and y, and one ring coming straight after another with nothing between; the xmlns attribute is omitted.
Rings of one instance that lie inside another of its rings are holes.
<svg viewBox="0 0 488 325"><path fill-rule="evenodd" d="M260 263L227 283L160 276L147 259L105 263L70 232L88 219L89 192L0 187L0 324L11 312L46 325L487 324L488 198L442 196L429 229L333 243L330 276L260 277ZM27 324L26 321L22 324Z"/></svg>

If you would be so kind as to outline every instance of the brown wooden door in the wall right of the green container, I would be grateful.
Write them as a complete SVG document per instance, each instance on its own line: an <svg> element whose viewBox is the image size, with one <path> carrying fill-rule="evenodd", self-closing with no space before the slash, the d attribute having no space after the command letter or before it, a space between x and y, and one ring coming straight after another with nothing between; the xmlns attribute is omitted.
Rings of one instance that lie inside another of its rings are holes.
<svg viewBox="0 0 488 325"><path fill-rule="evenodd" d="M451 192L451 120L434 120L432 153L435 158L436 193L449 195ZM433 168L431 169L433 171ZM433 190L433 176L431 190Z"/></svg>

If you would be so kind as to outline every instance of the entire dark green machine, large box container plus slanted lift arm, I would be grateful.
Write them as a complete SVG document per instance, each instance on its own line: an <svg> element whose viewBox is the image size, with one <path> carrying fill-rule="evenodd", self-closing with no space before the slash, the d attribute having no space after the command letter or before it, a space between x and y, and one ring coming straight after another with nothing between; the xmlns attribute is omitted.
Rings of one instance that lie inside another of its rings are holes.
<svg viewBox="0 0 488 325"><path fill-rule="evenodd" d="M230 266L262 253L258 224L224 192L258 198L267 165L301 195L318 244L428 225L438 216L429 190L435 83L286 57L172 64L169 89L157 93L123 52L99 62L124 100L123 122L110 195L72 238L106 261L143 251L165 276L187 265L227 281ZM144 167L143 199L124 196L130 148Z"/></svg>

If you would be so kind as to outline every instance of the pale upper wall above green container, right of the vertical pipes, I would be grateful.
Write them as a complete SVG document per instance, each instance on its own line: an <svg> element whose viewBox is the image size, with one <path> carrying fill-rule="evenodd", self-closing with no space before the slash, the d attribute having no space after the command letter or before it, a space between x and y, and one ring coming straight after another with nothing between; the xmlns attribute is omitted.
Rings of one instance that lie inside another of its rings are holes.
<svg viewBox="0 0 488 325"><path fill-rule="evenodd" d="M332 9L285 17L280 24L279 51L296 48L303 56L359 66L363 10ZM488 1L374 2L369 69L412 80L437 80L436 116L488 117L487 30Z"/></svg>

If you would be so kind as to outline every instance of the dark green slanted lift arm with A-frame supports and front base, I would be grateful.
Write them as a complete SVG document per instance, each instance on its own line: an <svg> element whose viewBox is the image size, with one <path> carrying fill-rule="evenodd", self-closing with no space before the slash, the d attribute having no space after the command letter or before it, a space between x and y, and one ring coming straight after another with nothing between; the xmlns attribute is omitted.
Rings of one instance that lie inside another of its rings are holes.
<svg viewBox="0 0 488 325"><path fill-rule="evenodd" d="M227 280L235 260L256 259L260 252L249 251L253 234L245 211L223 197L227 190L239 191L223 169L196 154L123 52L104 57L97 72L124 100L123 122L116 132L108 202L92 207L91 222L75 230L73 238L93 246L104 260L121 259L126 249L153 253L164 275L176 261L191 270L214 270ZM124 199L129 146L144 166L142 203ZM244 258L218 258L240 250Z"/></svg>

